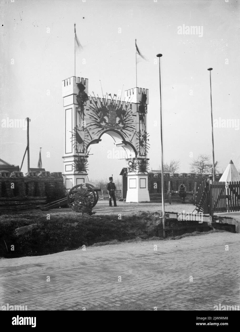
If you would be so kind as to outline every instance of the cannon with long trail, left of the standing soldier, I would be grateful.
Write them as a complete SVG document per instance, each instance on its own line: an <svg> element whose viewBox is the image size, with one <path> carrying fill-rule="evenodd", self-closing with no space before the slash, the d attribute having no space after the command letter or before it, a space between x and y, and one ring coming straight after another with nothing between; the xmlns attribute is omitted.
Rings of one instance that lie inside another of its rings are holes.
<svg viewBox="0 0 240 332"><path fill-rule="evenodd" d="M81 183L72 187L68 196L58 201L48 203L40 209L42 211L50 210L56 207L62 207L68 204L74 211L84 212L87 208L92 209L98 202L98 192L101 191L100 187L95 187L94 184Z"/></svg>

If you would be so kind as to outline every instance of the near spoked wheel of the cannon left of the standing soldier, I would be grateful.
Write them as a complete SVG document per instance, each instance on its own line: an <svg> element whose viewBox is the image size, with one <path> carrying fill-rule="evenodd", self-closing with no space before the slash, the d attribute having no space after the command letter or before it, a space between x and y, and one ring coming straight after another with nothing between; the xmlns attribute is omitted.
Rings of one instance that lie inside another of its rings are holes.
<svg viewBox="0 0 240 332"><path fill-rule="evenodd" d="M83 210L83 204L89 204L92 208L97 204L98 193L92 189L92 185L85 183L85 188L83 183L72 187L68 193L67 201L69 207L73 208L76 202L78 202L79 208ZM97 195L96 195L97 194Z"/></svg>

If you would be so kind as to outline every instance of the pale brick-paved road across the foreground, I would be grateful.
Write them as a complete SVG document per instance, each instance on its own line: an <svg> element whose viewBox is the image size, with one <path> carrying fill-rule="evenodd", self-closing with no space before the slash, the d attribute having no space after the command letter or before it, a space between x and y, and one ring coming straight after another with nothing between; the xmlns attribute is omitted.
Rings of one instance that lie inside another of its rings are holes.
<svg viewBox="0 0 240 332"><path fill-rule="evenodd" d="M216 232L1 259L0 306L213 310L218 303L239 305L239 240L240 234Z"/></svg>

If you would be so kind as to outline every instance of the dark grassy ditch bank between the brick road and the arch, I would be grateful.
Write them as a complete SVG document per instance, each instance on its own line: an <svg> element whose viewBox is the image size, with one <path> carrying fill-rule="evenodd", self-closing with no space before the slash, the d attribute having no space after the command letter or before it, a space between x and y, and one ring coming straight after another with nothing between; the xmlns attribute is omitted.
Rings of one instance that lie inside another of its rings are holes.
<svg viewBox="0 0 240 332"><path fill-rule="evenodd" d="M60 217L42 214L5 214L0 216L0 256L15 258L40 256L98 242L135 238L163 238L160 212L141 212L132 216L83 215ZM209 231L207 222L166 220L166 237L195 231Z"/></svg>

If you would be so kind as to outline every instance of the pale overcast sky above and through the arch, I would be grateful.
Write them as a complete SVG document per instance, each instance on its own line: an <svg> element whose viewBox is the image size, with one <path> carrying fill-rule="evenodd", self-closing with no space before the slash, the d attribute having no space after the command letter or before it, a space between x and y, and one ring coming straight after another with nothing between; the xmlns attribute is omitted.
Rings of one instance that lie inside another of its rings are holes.
<svg viewBox="0 0 240 332"><path fill-rule="evenodd" d="M164 161L180 159L180 172L189 172L199 154L211 155L207 68L213 67L213 119L236 124L214 128L215 161L220 172L230 159L239 168L239 12L234 0L1 1L0 158L21 165L26 130L4 128L2 120L29 117L30 167L37 167L42 147L43 167L63 172L62 80L74 76L75 22L83 46L76 76L89 79L89 92L101 94L99 80L112 94L123 84L136 86L135 38L148 60L138 63L138 87L149 89L150 169L161 163L157 53L163 54ZM191 26L199 27L197 35L180 34ZM90 179L116 178L126 167L125 160L108 159L114 148L107 134L92 145Z"/></svg>

